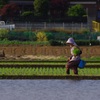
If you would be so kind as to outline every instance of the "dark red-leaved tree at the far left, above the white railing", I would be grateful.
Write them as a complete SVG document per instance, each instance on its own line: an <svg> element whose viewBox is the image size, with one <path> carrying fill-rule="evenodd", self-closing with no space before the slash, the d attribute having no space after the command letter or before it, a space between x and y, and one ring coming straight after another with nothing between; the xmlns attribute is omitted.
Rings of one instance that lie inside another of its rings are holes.
<svg viewBox="0 0 100 100"><path fill-rule="evenodd" d="M5 20L12 20L13 17L17 17L19 13L19 7L15 3L6 4L2 9L0 9L0 15Z"/></svg>

